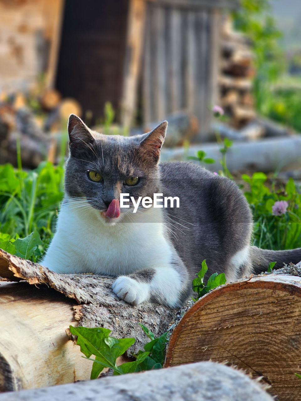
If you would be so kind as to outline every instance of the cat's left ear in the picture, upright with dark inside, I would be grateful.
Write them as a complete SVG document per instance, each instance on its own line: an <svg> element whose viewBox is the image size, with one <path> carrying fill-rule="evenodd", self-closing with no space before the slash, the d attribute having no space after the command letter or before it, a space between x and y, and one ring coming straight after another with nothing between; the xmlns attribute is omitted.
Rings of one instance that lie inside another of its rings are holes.
<svg viewBox="0 0 301 401"><path fill-rule="evenodd" d="M89 128L85 125L83 120L75 114L69 115L68 134L70 150L72 148L82 148L85 144L89 145L94 142Z"/></svg>

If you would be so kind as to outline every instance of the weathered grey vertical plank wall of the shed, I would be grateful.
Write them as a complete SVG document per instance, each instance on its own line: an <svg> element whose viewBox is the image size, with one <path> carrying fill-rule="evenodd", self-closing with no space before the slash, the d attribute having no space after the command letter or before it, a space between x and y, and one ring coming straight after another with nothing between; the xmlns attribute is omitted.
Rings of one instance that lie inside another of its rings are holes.
<svg viewBox="0 0 301 401"><path fill-rule="evenodd" d="M205 139L217 101L220 11L202 2L148 2L142 66L144 124L185 109Z"/></svg>

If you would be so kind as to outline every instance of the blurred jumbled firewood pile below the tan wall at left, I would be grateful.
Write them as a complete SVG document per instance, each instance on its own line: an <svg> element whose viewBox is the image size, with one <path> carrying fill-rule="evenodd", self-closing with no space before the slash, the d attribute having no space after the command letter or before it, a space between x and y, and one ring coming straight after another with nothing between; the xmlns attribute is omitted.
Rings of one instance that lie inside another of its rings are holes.
<svg viewBox="0 0 301 401"><path fill-rule="evenodd" d="M0 163L17 165L18 142L24 167L45 159L55 162L69 114L81 115L74 99L62 99L55 89L38 89L0 93Z"/></svg>

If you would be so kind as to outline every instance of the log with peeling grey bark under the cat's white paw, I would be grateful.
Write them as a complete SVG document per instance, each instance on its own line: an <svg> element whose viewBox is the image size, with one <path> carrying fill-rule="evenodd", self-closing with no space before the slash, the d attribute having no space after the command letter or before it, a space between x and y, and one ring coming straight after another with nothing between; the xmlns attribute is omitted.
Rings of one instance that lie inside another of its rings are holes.
<svg viewBox="0 0 301 401"><path fill-rule="evenodd" d="M139 322L159 336L175 314L161 305L132 307L119 300L112 277L57 274L1 249L0 276L0 281L34 284L0 285L0 391L89 379L92 362L81 358L79 347L67 337L69 324L134 337L130 352L137 353L149 341Z"/></svg>

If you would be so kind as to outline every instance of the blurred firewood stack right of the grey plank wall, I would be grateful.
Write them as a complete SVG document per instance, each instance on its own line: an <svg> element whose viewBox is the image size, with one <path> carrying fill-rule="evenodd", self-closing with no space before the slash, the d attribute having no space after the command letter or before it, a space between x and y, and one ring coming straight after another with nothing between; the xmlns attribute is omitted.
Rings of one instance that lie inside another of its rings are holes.
<svg viewBox="0 0 301 401"><path fill-rule="evenodd" d="M221 36L220 104L230 116L231 126L242 128L256 117L252 96L254 55L250 40L233 30L229 17L224 20Z"/></svg>

